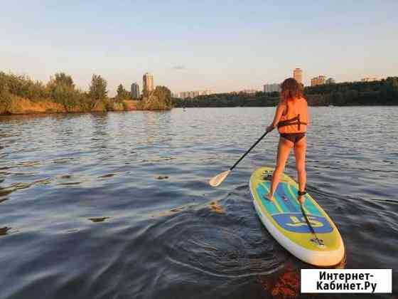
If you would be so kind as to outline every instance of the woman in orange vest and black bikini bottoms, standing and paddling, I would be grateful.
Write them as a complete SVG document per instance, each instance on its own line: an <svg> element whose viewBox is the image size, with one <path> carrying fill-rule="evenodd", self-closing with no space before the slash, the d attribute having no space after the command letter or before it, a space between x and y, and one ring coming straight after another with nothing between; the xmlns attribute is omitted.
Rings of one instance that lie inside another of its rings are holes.
<svg viewBox="0 0 398 299"><path fill-rule="evenodd" d="M298 177L298 201L303 203L307 182L306 131L308 123L308 105L306 99L303 98L301 84L294 80L294 78L288 78L281 85L281 101L276 108L274 121L267 127L267 132L271 132L275 127L278 127L281 135L276 157L276 167L272 175L271 189L268 194L269 200L273 200L274 192L281 181L281 175L284 172L290 150L294 149Z"/></svg>

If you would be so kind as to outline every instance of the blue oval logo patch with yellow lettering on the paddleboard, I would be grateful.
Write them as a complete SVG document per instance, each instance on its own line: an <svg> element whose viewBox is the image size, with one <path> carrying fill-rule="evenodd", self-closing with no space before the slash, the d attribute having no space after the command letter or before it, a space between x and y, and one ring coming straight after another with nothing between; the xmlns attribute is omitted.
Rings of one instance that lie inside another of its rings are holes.
<svg viewBox="0 0 398 299"><path fill-rule="evenodd" d="M272 215L274 220L286 231L293 231L295 233L311 233L306 219L303 214L285 213ZM333 227L330 226L329 221L322 216L308 215L308 221L316 233L330 233Z"/></svg>

